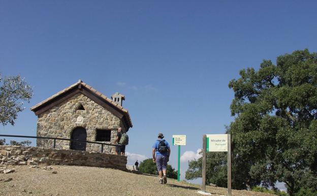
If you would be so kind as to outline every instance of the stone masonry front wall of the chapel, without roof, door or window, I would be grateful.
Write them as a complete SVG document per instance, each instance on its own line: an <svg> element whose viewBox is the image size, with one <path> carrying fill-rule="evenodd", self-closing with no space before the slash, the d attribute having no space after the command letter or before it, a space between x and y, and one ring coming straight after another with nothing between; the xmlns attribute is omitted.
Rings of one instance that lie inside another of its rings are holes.
<svg viewBox="0 0 317 196"><path fill-rule="evenodd" d="M85 110L77 110L82 104ZM96 142L96 130L111 130L111 141L116 137L117 129L122 126L121 120L85 95L78 93L64 102L38 115L37 136L71 138L76 127L86 129L87 141ZM126 128L122 126L122 130ZM52 148L52 139L37 139L37 146ZM70 141L56 140L56 149L70 149ZM101 145L87 143L86 151L101 152ZM104 145L104 153L113 154L115 147Z"/></svg>

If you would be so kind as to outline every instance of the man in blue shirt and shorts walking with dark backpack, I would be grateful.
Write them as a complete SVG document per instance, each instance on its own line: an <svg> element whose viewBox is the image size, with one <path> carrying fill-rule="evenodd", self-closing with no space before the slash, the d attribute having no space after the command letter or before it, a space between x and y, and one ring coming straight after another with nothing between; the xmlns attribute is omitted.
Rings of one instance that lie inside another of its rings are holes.
<svg viewBox="0 0 317 196"><path fill-rule="evenodd" d="M153 162L156 163L158 176L160 177L160 184L167 183L167 162L169 161L171 154L170 145L163 138L163 133L158 133L157 140L152 146Z"/></svg>

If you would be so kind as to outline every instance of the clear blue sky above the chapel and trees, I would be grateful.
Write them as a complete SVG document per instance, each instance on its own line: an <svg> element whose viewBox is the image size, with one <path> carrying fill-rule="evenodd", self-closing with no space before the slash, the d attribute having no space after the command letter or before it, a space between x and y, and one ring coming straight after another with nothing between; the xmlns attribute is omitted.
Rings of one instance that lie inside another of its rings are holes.
<svg viewBox="0 0 317 196"><path fill-rule="evenodd" d="M151 157L158 132L224 133L239 70L296 49L317 51L315 1L3 1L0 71L25 77L34 97L2 134L36 135L29 110L79 78L125 95L130 153ZM171 164L177 166L176 147ZM182 163L182 168L186 162ZM185 170L185 169L184 169ZM184 175L182 175L184 176Z"/></svg>

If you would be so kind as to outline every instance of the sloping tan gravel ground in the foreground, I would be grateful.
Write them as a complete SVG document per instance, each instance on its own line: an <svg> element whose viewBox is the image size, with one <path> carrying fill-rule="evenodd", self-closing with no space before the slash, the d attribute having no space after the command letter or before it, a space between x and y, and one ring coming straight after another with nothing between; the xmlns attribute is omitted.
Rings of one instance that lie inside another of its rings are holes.
<svg viewBox="0 0 317 196"><path fill-rule="evenodd" d="M0 195L201 195L200 186L168 179L165 185L152 175L86 166L11 166L15 172L0 174ZM54 174L55 173L55 174ZM12 178L12 180L10 180ZM8 181L10 180L10 181ZM213 196L226 195L227 189L206 187ZM269 196L252 191L232 190L233 196Z"/></svg>

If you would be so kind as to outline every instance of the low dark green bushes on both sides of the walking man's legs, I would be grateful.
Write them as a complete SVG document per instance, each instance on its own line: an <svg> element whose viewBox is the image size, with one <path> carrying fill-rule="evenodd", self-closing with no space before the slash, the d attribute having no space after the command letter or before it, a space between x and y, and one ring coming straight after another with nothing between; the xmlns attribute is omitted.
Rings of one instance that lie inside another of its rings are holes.
<svg viewBox="0 0 317 196"><path fill-rule="evenodd" d="M157 175L156 164L153 163L151 158L145 159L140 163L139 171L143 174ZM175 171L175 169L169 164L167 165L166 176L168 178L177 179L177 171Z"/></svg>

